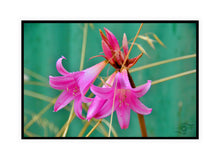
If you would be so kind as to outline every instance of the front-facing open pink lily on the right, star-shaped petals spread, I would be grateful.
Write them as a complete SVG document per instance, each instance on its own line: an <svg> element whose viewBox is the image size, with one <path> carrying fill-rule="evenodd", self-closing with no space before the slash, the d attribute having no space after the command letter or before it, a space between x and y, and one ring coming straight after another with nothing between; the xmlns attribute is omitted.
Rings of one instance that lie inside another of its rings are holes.
<svg viewBox="0 0 220 160"><path fill-rule="evenodd" d="M139 98L144 96L150 89L151 81L136 88L132 88L128 79L126 69L118 72L111 88L101 88L92 85L91 91L101 99L105 99L105 103L100 111L94 116L96 118L105 118L116 110L119 125L121 129L126 129L130 122L130 110L142 115L148 115L152 109L146 107L140 102ZM98 103L98 102L97 102ZM97 106L98 107L98 106Z"/></svg>

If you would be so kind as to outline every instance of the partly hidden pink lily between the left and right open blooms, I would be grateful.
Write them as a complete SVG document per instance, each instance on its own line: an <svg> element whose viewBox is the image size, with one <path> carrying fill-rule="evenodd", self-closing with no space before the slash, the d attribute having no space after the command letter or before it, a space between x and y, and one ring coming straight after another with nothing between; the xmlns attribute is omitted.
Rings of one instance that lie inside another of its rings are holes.
<svg viewBox="0 0 220 160"><path fill-rule="evenodd" d="M109 76L109 78L107 79L105 84L102 86L102 88L110 88L110 86L114 82L116 73L117 72L114 72L111 76ZM105 117L105 114L102 114L102 113L103 111L105 112L105 108L103 108L103 105L105 104L106 101L107 101L106 99L95 96L95 98L93 99L92 103L89 106L86 119L90 120L93 117L96 119L101 119Z"/></svg>

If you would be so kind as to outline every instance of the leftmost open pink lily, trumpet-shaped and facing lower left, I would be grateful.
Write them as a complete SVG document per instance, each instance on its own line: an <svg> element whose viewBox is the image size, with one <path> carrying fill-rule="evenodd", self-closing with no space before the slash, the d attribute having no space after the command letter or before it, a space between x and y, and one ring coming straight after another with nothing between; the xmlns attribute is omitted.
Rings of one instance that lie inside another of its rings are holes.
<svg viewBox="0 0 220 160"><path fill-rule="evenodd" d="M49 84L52 88L64 90L54 105L54 112L59 111L74 100L75 114L80 119L85 119L82 116L82 102L88 103L92 101L92 98L85 97L85 94L89 90L90 85L105 67L106 61L100 62L83 71L70 73L66 71L62 65L63 59L66 58L62 56L56 63L57 71L62 76L49 76Z"/></svg>

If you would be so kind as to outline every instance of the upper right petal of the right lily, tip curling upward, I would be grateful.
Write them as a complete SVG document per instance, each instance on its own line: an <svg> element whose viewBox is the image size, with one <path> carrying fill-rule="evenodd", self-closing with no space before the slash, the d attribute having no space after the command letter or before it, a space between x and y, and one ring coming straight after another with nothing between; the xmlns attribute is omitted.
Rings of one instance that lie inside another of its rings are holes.
<svg viewBox="0 0 220 160"><path fill-rule="evenodd" d="M146 84L136 88L132 88L132 92L135 94L136 97L139 98L147 93L147 91L150 89L150 86L151 86L151 80L148 80Z"/></svg>

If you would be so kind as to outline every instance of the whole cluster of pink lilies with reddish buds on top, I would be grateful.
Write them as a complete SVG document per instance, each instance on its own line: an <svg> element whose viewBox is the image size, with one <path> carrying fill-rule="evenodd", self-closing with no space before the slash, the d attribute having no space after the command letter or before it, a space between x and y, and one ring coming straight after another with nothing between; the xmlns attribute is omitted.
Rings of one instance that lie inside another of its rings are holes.
<svg viewBox="0 0 220 160"><path fill-rule="evenodd" d="M70 73L62 65L62 60L66 58L62 56L58 59L56 68L62 76L49 76L50 86L54 89L63 90L55 103L54 111L59 111L74 100L74 112L80 119L102 119L116 111L120 127L126 129L129 126L131 109L142 115L151 113L152 109L146 107L139 100L150 89L151 81L148 80L146 84L136 88L131 86L128 70L142 54L135 58L126 58L128 56L126 35L123 36L123 51L121 51L116 37L108 29L104 28L104 30L106 36L102 31L100 34L105 61L83 71ZM115 68L115 72L108 77L102 87L93 85L93 82L108 63ZM94 98L85 96L89 89L95 94ZM82 103L89 102L91 104L87 116L83 117Z"/></svg>

